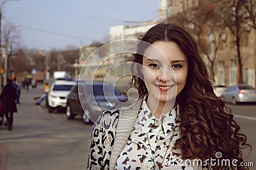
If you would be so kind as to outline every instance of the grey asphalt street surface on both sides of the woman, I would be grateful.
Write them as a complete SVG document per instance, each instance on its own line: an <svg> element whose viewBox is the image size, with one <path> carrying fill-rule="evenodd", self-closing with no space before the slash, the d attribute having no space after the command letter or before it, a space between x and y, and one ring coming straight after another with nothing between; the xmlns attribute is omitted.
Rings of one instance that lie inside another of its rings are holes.
<svg viewBox="0 0 256 170"><path fill-rule="evenodd" d="M85 125L80 117L70 121L63 113L49 114L43 103L35 106L33 97L42 92L42 85L29 91L22 89L13 131L0 127L0 169L86 169L92 125ZM228 106L253 148L246 162L256 164L256 106Z"/></svg>

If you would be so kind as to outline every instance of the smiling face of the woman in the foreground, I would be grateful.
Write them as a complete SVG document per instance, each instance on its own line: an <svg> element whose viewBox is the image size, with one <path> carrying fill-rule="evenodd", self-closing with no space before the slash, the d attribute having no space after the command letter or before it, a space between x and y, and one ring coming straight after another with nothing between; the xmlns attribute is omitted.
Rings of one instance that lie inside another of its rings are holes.
<svg viewBox="0 0 256 170"><path fill-rule="evenodd" d="M158 48L158 50L157 50ZM152 104L173 102L186 84L188 59L173 41L156 41L145 50L141 69Z"/></svg>

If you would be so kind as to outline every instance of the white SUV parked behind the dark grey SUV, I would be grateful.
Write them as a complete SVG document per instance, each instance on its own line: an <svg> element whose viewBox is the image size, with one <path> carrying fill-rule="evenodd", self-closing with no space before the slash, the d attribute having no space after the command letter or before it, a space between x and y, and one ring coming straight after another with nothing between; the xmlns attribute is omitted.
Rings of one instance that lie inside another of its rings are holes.
<svg viewBox="0 0 256 170"><path fill-rule="evenodd" d="M74 85L76 81L56 80L52 83L47 102L49 113L56 108L67 107L67 96Z"/></svg>

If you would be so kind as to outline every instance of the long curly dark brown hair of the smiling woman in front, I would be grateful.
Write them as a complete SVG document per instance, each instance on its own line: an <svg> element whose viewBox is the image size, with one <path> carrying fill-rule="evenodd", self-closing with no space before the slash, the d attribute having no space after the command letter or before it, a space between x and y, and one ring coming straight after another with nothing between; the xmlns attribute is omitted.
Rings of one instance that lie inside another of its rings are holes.
<svg viewBox="0 0 256 170"><path fill-rule="evenodd" d="M200 57L193 36L178 25L160 23L139 39L150 44L155 41L173 41L188 58L186 85L176 98L176 104L180 108L177 118L180 138L175 141L173 149L181 150L182 159L205 160L209 157L216 158L216 152L221 152L221 159L237 159L237 164L243 162L241 150L251 146L246 143L246 136L239 132L240 127L233 119L230 108L214 94L207 67ZM142 64L142 51L139 43L138 53L134 54L134 63ZM138 64L134 66L138 67ZM141 79L143 74L140 69L132 67L132 73L135 72L137 75L133 76L134 86L142 98L148 91L143 78ZM237 167L239 168L241 169Z"/></svg>

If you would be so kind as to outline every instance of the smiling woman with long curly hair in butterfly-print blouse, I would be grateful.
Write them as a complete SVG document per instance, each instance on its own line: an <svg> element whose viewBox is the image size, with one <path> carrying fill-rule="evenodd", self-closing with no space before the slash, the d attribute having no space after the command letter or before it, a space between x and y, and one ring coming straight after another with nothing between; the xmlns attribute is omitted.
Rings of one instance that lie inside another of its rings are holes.
<svg viewBox="0 0 256 170"><path fill-rule="evenodd" d="M242 149L250 145L214 94L193 36L160 23L140 40L131 69L139 99L99 117L87 168L248 169L207 160L236 159L239 165Z"/></svg>

